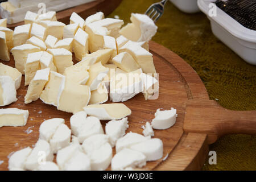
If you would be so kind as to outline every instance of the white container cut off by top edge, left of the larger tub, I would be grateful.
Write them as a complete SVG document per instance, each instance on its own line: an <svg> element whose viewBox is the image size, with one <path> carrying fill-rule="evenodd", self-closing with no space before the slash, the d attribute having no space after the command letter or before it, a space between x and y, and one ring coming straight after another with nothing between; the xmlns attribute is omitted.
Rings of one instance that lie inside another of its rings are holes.
<svg viewBox="0 0 256 182"><path fill-rule="evenodd" d="M197 13L200 11L197 0L170 0L174 5L185 13Z"/></svg>

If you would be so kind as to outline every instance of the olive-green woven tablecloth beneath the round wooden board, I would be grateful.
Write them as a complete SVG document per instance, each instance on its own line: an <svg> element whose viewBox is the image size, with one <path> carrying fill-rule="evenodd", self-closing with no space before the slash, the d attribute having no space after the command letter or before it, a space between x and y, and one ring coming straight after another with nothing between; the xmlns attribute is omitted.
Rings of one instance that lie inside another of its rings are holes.
<svg viewBox="0 0 256 182"><path fill-rule="evenodd" d="M125 23L131 13L144 13L160 0L123 0L109 17ZM256 110L256 66L245 63L218 40L203 13L185 14L167 2L156 23L153 40L181 56L203 80L209 97L232 110ZM216 113L217 114L217 113ZM226 135L210 146L217 152L217 165L205 161L204 170L256 170L256 137Z"/></svg>

